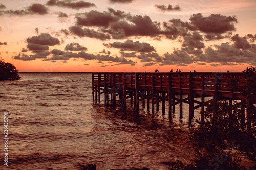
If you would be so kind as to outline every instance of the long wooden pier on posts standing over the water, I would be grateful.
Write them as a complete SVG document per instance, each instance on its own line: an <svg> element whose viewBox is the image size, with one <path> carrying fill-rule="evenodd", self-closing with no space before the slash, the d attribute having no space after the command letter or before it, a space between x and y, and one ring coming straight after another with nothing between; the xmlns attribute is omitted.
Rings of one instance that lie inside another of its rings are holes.
<svg viewBox="0 0 256 170"><path fill-rule="evenodd" d="M138 111L140 103L147 110L152 109L152 114L159 110L162 103L162 112L165 113L165 103L168 102L169 118L175 113L175 106L179 104L180 118L183 116L182 104L189 104L189 121L194 117L194 110L201 107L202 113L206 102L211 100L228 100L232 106L233 100L241 100L237 106L241 106L244 113L244 98L240 92L230 91L228 83L231 79L238 81L238 86L244 86L246 80L242 73L148 73L148 72L114 72L92 73L93 100L101 102L101 94L104 94L104 102L109 100L115 105L116 97L126 107L127 99L130 99ZM185 96L185 98L184 98ZM206 97L211 100L205 102ZM156 107L155 107L156 106ZM202 114L202 120L204 114ZM248 121L247 121L248 122Z"/></svg>

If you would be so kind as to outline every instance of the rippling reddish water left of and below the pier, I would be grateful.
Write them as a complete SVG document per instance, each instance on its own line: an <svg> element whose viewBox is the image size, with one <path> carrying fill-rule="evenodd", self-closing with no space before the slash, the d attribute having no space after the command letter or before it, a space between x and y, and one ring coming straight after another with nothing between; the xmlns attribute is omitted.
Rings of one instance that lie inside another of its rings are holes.
<svg viewBox="0 0 256 170"><path fill-rule="evenodd" d="M159 162L194 159L188 140L188 107L152 116L93 103L91 74L19 74L0 82L0 125L8 111L8 169L167 169ZM167 110L167 104L166 104ZM195 118L200 117L195 111ZM2 137L1 141L4 137ZM4 145L1 142L1 165Z"/></svg>

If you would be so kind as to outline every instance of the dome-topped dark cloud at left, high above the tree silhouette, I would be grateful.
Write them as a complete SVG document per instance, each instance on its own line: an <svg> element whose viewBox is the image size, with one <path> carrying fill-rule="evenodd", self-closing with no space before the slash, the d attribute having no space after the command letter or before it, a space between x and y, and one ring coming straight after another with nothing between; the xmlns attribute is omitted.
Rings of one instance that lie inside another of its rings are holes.
<svg viewBox="0 0 256 170"><path fill-rule="evenodd" d="M33 36L27 38L28 43L39 44L39 45L49 45L54 46L60 44L60 41L57 38L52 37L50 34L41 33L38 36Z"/></svg>

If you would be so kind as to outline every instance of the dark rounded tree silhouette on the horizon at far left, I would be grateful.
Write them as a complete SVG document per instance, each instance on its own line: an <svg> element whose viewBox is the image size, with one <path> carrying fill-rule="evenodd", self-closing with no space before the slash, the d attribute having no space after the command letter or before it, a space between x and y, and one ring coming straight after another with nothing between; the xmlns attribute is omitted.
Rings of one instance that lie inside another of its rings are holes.
<svg viewBox="0 0 256 170"><path fill-rule="evenodd" d="M18 70L10 63L5 63L0 60L0 81L3 80L18 80Z"/></svg>

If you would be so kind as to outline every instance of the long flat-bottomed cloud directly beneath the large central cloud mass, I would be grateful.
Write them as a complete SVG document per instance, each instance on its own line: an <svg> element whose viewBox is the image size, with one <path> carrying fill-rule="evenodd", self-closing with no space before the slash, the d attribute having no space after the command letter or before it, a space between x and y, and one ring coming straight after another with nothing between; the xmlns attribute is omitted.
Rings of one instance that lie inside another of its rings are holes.
<svg viewBox="0 0 256 170"><path fill-rule="evenodd" d="M137 52L156 52L155 48L146 42L140 43L139 41L133 42L133 40L127 40L124 43L122 42L113 42L109 44L103 44L108 48L119 48L121 51L128 50L128 51L137 51Z"/></svg>

